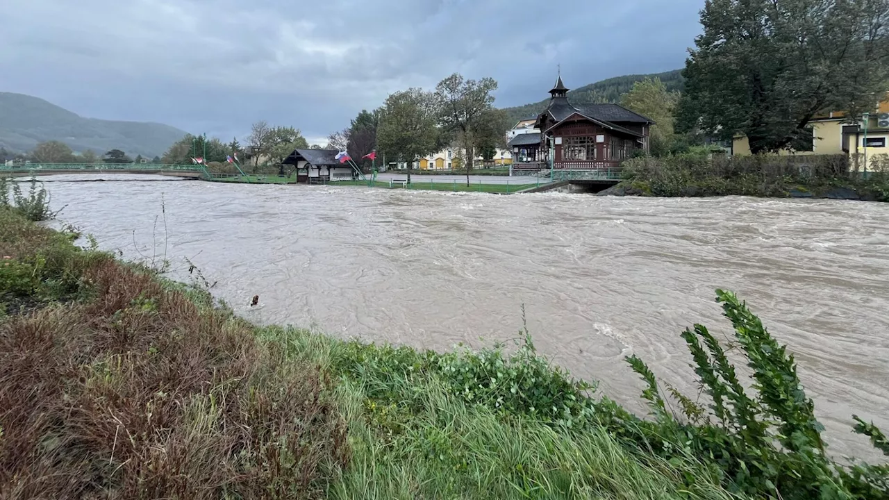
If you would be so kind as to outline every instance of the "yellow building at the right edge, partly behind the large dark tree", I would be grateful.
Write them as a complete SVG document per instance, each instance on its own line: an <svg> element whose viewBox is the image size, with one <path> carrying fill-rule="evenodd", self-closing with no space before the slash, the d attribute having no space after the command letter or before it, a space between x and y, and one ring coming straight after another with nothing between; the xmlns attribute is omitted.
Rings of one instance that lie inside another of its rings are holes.
<svg viewBox="0 0 889 500"><path fill-rule="evenodd" d="M841 111L815 117L812 125L811 150L781 150L781 155L859 155L859 161L868 157L868 170L872 169L881 155L889 155L889 93L877 107L869 113L867 127L863 117L856 121L849 119ZM867 128L867 138L865 138ZM736 136L732 143L733 155L749 155L750 144L747 137ZM863 165L861 165L863 168Z"/></svg>

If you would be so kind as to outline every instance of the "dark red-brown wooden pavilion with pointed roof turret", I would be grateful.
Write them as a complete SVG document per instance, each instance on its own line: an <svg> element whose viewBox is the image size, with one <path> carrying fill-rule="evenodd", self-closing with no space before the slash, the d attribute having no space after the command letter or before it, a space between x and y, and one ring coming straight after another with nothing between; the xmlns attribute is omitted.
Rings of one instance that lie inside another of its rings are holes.
<svg viewBox="0 0 889 500"><path fill-rule="evenodd" d="M572 104L567 94L560 76L547 109L509 141L514 170L613 170L648 152L653 120L618 104Z"/></svg>

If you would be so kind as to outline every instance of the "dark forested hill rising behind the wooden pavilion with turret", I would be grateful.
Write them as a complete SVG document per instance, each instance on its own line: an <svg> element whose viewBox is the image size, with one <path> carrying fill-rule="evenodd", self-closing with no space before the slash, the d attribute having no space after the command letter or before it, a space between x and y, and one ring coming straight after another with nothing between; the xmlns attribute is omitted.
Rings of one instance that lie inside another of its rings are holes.
<svg viewBox="0 0 889 500"><path fill-rule="evenodd" d="M575 103L588 102L618 102L621 101L621 95L627 93L633 88L633 84L645 80L645 78L661 78L661 82L667 85L669 91L681 91L685 83L682 77L682 69L675 69L665 73L654 73L651 75L627 75L624 77L613 77L595 84L584 85L578 89L568 92L568 100ZM549 90L549 89L547 89ZM514 108L506 108L510 122L536 115L543 109L547 108L549 99L544 99L533 104L525 104L525 106L516 106Z"/></svg>

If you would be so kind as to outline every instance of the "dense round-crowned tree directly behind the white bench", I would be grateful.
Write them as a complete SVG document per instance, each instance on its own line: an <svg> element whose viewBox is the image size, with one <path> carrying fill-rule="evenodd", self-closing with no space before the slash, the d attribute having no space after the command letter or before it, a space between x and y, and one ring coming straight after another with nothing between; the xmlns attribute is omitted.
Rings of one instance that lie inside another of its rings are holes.
<svg viewBox="0 0 889 500"><path fill-rule="evenodd" d="M380 113L377 144L390 157L407 164L407 181L418 157L425 157L439 148L436 97L419 88L390 94Z"/></svg>

